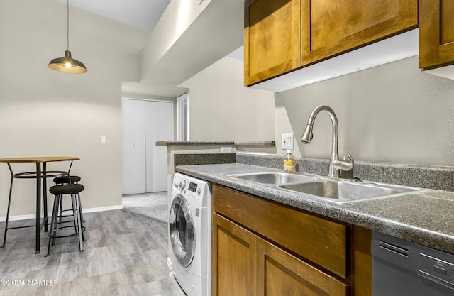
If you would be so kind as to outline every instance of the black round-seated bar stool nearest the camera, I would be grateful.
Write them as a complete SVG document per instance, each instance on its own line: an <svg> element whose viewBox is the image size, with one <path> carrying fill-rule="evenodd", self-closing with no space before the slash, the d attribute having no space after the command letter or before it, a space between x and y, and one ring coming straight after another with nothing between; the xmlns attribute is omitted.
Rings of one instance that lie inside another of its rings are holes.
<svg viewBox="0 0 454 296"><path fill-rule="evenodd" d="M48 242L48 253L46 256L49 256L50 245L53 244L56 238L62 238L67 236L78 236L79 237L79 250L84 251L82 246L83 241L83 231L84 226L82 222L82 209L79 207L80 204L80 192L84 190L84 185L82 184L65 184L65 185L55 185L50 187L49 192L54 194L54 205L52 210L52 221L50 222L50 232L49 232L49 242ZM57 221L60 216L60 204L63 202L63 197L67 194L71 196L72 203L72 216L74 220L67 222L74 222L74 234L69 235L57 235L57 231L63 228L72 227L72 226L61 226L62 221ZM60 226L60 227L59 227Z"/></svg>

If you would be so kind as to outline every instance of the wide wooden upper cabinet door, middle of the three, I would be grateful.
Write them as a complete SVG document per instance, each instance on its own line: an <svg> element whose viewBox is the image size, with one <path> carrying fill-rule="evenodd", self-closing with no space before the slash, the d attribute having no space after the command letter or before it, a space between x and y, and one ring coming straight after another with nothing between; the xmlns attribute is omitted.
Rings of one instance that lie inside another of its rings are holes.
<svg viewBox="0 0 454 296"><path fill-rule="evenodd" d="M301 0L302 64L326 60L417 26L418 0Z"/></svg>

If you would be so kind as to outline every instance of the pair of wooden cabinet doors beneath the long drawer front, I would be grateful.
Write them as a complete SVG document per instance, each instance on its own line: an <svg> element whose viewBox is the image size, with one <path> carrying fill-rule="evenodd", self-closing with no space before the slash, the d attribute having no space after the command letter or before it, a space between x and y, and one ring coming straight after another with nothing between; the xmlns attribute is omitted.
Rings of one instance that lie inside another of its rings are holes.
<svg viewBox="0 0 454 296"><path fill-rule="evenodd" d="M348 285L214 214L212 295L345 296Z"/></svg>

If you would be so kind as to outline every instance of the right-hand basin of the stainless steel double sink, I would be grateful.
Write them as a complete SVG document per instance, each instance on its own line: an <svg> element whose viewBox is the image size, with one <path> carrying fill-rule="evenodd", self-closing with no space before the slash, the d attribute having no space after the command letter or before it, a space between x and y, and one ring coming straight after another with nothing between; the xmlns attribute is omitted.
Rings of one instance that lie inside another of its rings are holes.
<svg viewBox="0 0 454 296"><path fill-rule="evenodd" d="M345 181L319 181L299 184L279 185L279 187L323 197L337 203L360 202L419 190L419 188L380 183L360 183Z"/></svg>

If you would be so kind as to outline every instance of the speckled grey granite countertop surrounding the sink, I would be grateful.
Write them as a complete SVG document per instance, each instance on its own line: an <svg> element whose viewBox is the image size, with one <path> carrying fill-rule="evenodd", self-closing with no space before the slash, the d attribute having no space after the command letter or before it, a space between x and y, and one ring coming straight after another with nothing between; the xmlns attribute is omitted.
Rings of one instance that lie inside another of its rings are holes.
<svg viewBox="0 0 454 296"><path fill-rule="evenodd" d="M454 254L454 192L421 190L384 199L335 204L309 194L226 176L282 171L273 168L230 163L179 165L175 171Z"/></svg>

